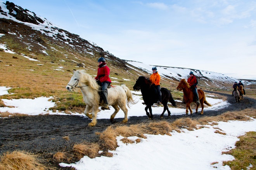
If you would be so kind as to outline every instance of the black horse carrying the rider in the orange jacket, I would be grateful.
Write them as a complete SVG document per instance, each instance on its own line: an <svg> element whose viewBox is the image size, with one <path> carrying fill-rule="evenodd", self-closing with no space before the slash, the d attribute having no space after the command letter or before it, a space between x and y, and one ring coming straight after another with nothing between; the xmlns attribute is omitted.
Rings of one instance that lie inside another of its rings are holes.
<svg viewBox="0 0 256 170"><path fill-rule="evenodd" d="M136 80L135 85L133 86L133 90L140 90L142 93L142 98L144 100L144 103L146 105L145 111L149 119L153 118L152 115L152 109L151 106L158 101L157 91L156 88L151 87L151 82L149 78L146 78L144 76L139 76L139 78ZM173 100L173 97L171 95L170 90L167 88L161 88L162 93L162 104L164 105L164 110L161 114L161 118L164 116L164 112L167 110L168 116L171 115L171 112L168 109L168 102L171 102L173 106L176 106L175 101ZM149 112L147 111L149 109Z"/></svg>

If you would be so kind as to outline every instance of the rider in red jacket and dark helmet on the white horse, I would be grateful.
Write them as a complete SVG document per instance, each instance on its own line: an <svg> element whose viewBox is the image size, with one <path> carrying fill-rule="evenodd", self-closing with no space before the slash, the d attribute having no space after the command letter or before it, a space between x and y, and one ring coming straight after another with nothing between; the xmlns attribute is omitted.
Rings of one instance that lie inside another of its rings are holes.
<svg viewBox="0 0 256 170"><path fill-rule="evenodd" d="M109 78L110 69L106 64L106 60L103 57L98 59L99 68L97 72L97 76L95 77L97 83L101 87L101 97L104 100L104 106L101 107L102 110L109 110L109 103L107 101L107 87L111 84L111 80Z"/></svg>

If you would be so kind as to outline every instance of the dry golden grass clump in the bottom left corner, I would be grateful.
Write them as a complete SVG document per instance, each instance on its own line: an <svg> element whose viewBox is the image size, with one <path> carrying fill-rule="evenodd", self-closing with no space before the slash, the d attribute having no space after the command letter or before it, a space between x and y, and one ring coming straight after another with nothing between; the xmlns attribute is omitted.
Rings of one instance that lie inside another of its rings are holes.
<svg viewBox="0 0 256 170"><path fill-rule="evenodd" d="M0 157L0 170L48 170L35 155L24 151L6 152Z"/></svg>

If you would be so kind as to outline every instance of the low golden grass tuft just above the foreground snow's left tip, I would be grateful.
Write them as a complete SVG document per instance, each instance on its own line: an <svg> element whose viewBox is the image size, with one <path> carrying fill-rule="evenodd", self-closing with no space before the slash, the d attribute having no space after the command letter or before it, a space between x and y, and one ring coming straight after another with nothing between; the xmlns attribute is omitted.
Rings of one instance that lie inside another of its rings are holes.
<svg viewBox="0 0 256 170"><path fill-rule="evenodd" d="M100 146L97 143L90 144L76 144L73 146L74 155L81 159L83 156L87 155L89 158L95 158L99 156Z"/></svg>

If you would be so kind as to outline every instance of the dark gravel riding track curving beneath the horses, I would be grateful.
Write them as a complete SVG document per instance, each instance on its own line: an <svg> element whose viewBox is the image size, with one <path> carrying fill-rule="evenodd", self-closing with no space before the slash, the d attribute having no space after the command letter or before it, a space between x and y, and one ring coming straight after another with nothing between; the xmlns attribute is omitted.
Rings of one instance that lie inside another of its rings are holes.
<svg viewBox="0 0 256 170"><path fill-rule="evenodd" d="M204 115L192 114L187 117L196 119L202 116L217 116L227 111L256 108L256 100L248 98L246 95L244 100L236 103L235 98L231 97L230 94L217 94L227 97L230 105L221 110L207 110ZM185 108L184 104L183 108ZM144 110L141 111L145 112ZM199 107L199 111L201 111L201 107ZM181 117L185 117L185 114L168 117L166 112L163 119L160 119L159 115L155 115L153 120L149 120L147 116L133 116L129 118L126 124L160 120L172 122ZM121 123L122 120L123 118L116 119L116 124ZM111 125L109 119L100 119L95 127L88 127L87 124L90 121L87 117L61 115L17 116L0 119L0 155L7 151L28 151L39 154L44 163L47 162L50 166L55 166L57 169L68 169L59 167L58 164L52 161L52 156L58 151L70 151L74 144L83 141L97 142L99 136L95 132L102 132ZM69 141L63 139L64 136L69 136Z"/></svg>

